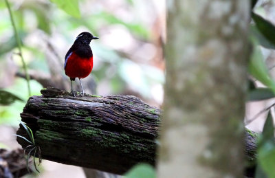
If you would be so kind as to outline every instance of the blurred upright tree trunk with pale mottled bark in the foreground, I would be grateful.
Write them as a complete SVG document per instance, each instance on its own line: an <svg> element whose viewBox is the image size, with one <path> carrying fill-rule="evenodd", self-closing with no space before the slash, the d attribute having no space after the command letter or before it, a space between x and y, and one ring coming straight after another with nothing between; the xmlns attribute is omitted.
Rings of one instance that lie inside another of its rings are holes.
<svg viewBox="0 0 275 178"><path fill-rule="evenodd" d="M250 1L168 0L159 177L242 177Z"/></svg>

